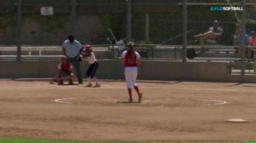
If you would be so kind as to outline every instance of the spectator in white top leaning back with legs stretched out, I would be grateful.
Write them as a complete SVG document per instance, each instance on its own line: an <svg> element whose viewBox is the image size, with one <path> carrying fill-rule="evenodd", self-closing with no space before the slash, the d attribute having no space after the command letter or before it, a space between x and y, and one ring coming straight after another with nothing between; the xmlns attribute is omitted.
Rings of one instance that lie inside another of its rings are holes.
<svg viewBox="0 0 256 143"><path fill-rule="evenodd" d="M199 40L200 45L206 45L209 40L215 41L217 36L222 36L223 29L219 27L219 22L214 20L214 26L211 26L204 34L195 35L195 38ZM200 52L204 52L204 47L201 47Z"/></svg>

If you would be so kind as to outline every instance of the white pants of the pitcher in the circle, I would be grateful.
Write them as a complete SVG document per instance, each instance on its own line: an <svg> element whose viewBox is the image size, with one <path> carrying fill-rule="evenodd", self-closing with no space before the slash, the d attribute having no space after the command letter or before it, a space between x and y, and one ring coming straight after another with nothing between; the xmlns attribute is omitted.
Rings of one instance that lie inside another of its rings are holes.
<svg viewBox="0 0 256 143"><path fill-rule="evenodd" d="M137 66L127 66L124 69L125 80L127 80L127 88L134 88L137 86L136 79L138 75Z"/></svg>

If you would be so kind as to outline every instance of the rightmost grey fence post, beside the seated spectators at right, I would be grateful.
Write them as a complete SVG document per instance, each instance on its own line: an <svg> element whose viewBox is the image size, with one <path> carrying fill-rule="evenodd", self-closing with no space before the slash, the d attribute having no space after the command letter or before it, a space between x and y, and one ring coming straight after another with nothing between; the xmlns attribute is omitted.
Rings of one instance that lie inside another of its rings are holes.
<svg viewBox="0 0 256 143"><path fill-rule="evenodd" d="M246 44L246 28L245 28L245 17L246 17L246 6L245 6L246 0L241 0L242 8L244 9L242 11L242 41L241 41L241 50L242 50L242 57L241 57L241 75L244 75L245 73L245 44Z"/></svg>

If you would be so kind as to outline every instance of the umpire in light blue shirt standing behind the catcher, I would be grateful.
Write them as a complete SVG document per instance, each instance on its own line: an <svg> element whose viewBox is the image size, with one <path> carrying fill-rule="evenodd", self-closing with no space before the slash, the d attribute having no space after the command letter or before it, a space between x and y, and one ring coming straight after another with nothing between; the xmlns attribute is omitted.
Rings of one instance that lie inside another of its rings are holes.
<svg viewBox="0 0 256 143"><path fill-rule="evenodd" d="M78 76L78 83L83 84L83 78L80 67L80 55L82 53L83 46L75 40L75 36L69 35L68 39L64 41L62 45L63 55L66 55L69 63L75 66L75 71Z"/></svg>

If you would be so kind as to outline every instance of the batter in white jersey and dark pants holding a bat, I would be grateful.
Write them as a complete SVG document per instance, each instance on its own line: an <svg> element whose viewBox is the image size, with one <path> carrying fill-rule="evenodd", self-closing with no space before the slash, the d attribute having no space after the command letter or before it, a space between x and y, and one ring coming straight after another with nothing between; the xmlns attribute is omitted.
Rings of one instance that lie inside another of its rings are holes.
<svg viewBox="0 0 256 143"><path fill-rule="evenodd" d="M91 50L91 45L85 45L84 46L83 55L88 59L89 61L89 68L86 71L86 77L88 78L88 85L86 87L92 87L91 80L94 80L96 82L96 85L94 85L94 88L99 88L100 83L97 80L97 77L95 77L96 71L99 67L99 63L97 62L97 59L95 58L94 52Z"/></svg>

